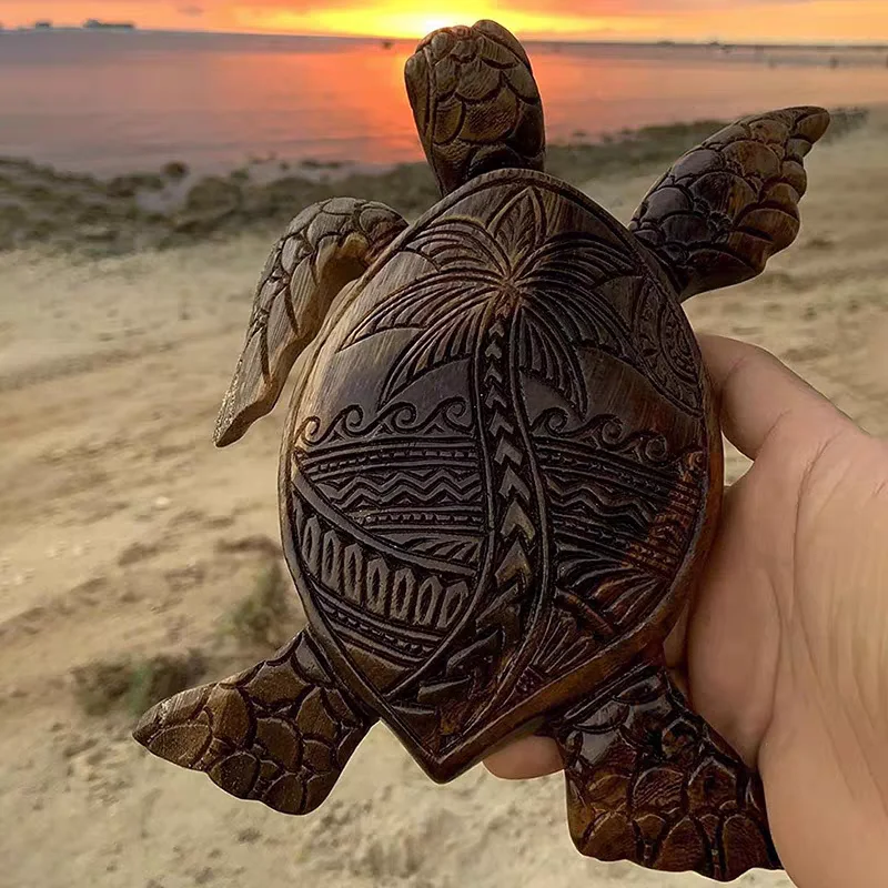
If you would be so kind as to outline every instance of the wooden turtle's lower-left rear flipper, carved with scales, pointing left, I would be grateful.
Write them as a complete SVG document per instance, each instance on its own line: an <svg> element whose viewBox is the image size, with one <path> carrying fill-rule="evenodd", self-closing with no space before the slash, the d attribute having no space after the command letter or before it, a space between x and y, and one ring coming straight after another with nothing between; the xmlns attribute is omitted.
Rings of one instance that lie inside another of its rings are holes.
<svg viewBox="0 0 888 888"><path fill-rule="evenodd" d="M133 736L232 796L307 814L375 722L301 632L272 659L159 703Z"/></svg>

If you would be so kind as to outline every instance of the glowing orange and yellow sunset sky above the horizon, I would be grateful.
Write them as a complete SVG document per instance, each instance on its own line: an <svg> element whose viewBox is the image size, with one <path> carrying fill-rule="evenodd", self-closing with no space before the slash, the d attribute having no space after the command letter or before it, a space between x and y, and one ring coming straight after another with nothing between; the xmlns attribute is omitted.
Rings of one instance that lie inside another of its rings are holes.
<svg viewBox="0 0 888 888"><path fill-rule="evenodd" d="M408 38L494 18L525 38L888 42L888 0L0 0L7 28L38 17Z"/></svg>

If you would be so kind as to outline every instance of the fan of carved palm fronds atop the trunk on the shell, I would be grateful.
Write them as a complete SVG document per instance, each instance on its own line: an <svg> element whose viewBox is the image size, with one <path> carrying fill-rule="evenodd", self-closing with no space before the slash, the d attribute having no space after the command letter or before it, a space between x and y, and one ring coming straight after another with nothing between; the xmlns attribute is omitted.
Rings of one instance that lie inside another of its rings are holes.
<svg viewBox="0 0 888 888"><path fill-rule="evenodd" d="M618 355L625 349L616 314L588 294L608 280L637 273L627 250L588 234L549 236L545 208L533 189L513 198L488 226L448 218L426 228L408 249L435 271L393 292L343 346L385 330L424 331L392 367L386 401L422 374L474 355L501 322L514 329L517 369L585 411L576 345Z"/></svg>

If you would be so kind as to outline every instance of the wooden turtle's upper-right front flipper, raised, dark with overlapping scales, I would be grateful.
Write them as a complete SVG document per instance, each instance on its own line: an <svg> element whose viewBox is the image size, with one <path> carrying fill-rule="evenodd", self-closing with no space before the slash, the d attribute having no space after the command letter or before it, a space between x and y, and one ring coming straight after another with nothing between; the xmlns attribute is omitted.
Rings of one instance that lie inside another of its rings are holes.
<svg viewBox="0 0 888 888"><path fill-rule="evenodd" d="M799 232L804 158L829 127L821 108L748 117L683 157L648 192L629 230L682 299L760 274Z"/></svg>

